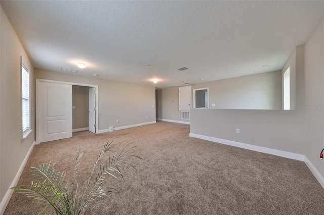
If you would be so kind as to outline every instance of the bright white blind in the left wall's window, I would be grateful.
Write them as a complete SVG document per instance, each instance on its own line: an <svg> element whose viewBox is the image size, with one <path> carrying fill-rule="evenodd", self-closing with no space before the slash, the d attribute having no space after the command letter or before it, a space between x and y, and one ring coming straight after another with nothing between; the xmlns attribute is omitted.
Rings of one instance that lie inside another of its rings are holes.
<svg viewBox="0 0 324 215"><path fill-rule="evenodd" d="M29 69L21 65L22 132L30 129Z"/></svg>

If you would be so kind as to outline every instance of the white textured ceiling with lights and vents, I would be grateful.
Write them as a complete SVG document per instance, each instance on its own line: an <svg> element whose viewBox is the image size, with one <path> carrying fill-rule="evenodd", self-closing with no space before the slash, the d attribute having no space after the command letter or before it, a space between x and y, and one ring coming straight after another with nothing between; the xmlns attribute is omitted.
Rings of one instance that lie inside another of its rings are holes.
<svg viewBox="0 0 324 215"><path fill-rule="evenodd" d="M157 88L280 70L323 20L324 8L323 1L1 5L34 68L62 72L84 62L76 75ZM182 67L189 69L177 70Z"/></svg>

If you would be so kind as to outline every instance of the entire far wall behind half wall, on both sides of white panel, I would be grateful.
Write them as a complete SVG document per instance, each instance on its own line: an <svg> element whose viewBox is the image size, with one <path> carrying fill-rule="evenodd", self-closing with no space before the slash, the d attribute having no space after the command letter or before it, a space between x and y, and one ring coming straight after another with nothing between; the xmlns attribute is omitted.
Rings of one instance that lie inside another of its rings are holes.
<svg viewBox="0 0 324 215"><path fill-rule="evenodd" d="M209 88L210 109L281 110L281 82L281 71L274 71L194 84L191 89ZM178 87L156 90L156 102L158 119L188 122L180 119Z"/></svg>

